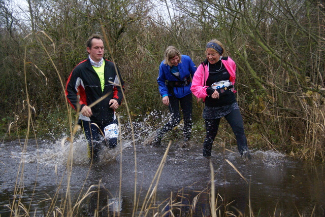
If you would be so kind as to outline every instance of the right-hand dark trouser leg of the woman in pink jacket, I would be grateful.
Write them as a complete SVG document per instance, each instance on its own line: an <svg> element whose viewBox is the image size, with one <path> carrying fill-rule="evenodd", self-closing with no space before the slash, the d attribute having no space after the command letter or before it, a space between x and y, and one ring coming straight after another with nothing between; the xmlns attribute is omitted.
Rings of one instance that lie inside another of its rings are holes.
<svg viewBox="0 0 325 217"><path fill-rule="evenodd" d="M242 115L240 114L240 111L236 109L224 117L232 127L236 136L238 151L240 155L243 155L243 152L248 150L248 147Z"/></svg>

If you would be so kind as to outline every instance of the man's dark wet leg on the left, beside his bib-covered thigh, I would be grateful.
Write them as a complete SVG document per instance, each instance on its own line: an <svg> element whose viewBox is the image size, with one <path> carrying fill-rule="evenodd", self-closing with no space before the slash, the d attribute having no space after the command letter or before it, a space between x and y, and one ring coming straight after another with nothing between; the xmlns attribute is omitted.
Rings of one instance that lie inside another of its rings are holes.
<svg viewBox="0 0 325 217"><path fill-rule="evenodd" d="M89 121L81 120L81 126L84 130L86 139L88 141L88 148L90 151L90 159L98 160L99 151L101 150L101 135L100 129L91 124Z"/></svg>

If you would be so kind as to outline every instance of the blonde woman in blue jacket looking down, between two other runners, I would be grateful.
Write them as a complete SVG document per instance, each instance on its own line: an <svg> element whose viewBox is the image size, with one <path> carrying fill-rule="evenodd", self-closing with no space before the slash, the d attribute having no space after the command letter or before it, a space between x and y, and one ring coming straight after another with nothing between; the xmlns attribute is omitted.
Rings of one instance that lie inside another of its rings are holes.
<svg viewBox="0 0 325 217"><path fill-rule="evenodd" d="M179 124L180 104L184 119L184 143L180 147L188 147L192 128L191 78L197 67L189 56L181 55L174 46L169 46L164 56L165 60L159 66L157 82L163 104L169 106L171 119L163 128L156 131L153 138L149 139L149 144L159 146L164 134Z"/></svg>

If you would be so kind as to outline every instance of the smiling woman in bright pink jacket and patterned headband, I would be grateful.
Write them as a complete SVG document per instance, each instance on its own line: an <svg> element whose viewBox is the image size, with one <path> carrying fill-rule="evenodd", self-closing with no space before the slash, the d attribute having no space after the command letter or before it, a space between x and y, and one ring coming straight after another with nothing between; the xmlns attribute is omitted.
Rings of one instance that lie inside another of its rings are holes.
<svg viewBox="0 0 325 217"><path fill-rule="evenodd" d="M225 117L236 135L240 155L250 158L243 119L235 96L236 64L230 57L223 57L223 52L223 46L218 40L208 42L205 51L207 59L198 67L192 80L192 93L205 102L203 118L207 132L203 156L211 156L220 119Z"/></svg>

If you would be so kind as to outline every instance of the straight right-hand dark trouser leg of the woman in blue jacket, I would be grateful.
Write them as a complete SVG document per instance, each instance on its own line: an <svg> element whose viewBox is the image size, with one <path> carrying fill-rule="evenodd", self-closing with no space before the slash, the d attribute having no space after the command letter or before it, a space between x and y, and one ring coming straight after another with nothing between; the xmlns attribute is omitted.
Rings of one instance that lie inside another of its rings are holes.
<svg viewBox="0 0 325 217"><path fill-rule="evenodd" d="M179 99L181 104L182 112L183 112L183 119L184 119L184 139L188 141L191 137L192 131L192 94L188 94Z"/></svg>

